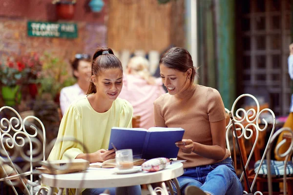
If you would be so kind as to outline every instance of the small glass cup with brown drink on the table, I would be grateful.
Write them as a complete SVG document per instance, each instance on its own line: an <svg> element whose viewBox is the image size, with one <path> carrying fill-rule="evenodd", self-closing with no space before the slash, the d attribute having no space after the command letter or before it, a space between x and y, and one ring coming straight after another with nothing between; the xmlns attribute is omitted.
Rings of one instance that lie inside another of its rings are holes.
<svg viewBox="0 0 293 195"><path fill-rule="evenodd" d="M132 149L117 150L116 164L119 170L126 170L133 168Z"/></svg>

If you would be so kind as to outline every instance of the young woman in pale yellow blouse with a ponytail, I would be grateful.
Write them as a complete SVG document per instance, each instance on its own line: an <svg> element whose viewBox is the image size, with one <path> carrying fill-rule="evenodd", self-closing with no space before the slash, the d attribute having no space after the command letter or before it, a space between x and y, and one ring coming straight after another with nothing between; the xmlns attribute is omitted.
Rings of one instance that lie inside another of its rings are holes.
<svg viewBox="0 0 293 195"><path fill-rule="evenodd" d="M133 109L129 102L117 98L122 89L123 69L120 60L109 48L99 48L92 61L91 83L86 96L75 100L65 112L58 138L75 137L81 144L64 141L54 145L48 160L83 158L103 162L115 157L106 150L113 126L132 127ZM83 195L101 194L105 189L86 189ZM140 186L110 188L111 195L139 195Z"/></svg>

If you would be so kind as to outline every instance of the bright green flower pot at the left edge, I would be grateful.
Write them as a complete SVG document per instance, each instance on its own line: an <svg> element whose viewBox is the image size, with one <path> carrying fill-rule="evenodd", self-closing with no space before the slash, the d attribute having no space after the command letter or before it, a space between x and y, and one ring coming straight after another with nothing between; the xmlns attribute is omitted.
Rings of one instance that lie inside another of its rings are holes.
<svg viewBox="0 0 293 195"><path fill-rule="evenodd" d="M2 86L1 87L2 98L6 106L15 106L21 102L20 86L14 87Z"/></svg>

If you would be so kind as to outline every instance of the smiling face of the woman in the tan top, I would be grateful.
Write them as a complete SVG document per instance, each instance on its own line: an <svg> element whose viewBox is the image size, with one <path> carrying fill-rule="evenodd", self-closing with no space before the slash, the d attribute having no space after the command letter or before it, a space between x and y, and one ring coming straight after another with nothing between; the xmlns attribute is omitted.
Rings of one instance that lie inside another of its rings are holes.
<svg viewBox="0 0 293 195"><path fill-rule="evenodd" d="M191 69L188 69L186 72L181 72L160 64L160 74L162 82L167 87L170 95L181 93L190 85L190 79L188 77L190 77Z"/></svg>

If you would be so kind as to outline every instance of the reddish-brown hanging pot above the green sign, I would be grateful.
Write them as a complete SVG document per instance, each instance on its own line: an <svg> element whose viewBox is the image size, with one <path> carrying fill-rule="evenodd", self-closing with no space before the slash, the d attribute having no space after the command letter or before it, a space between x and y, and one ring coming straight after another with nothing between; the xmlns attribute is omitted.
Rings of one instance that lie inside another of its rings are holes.
<svg viewBox="0 0 293 195"><path fill-rule="evenodd" d="M60 20L72 20L74 17L75 0L54 0L56 14Z"/></svg>

